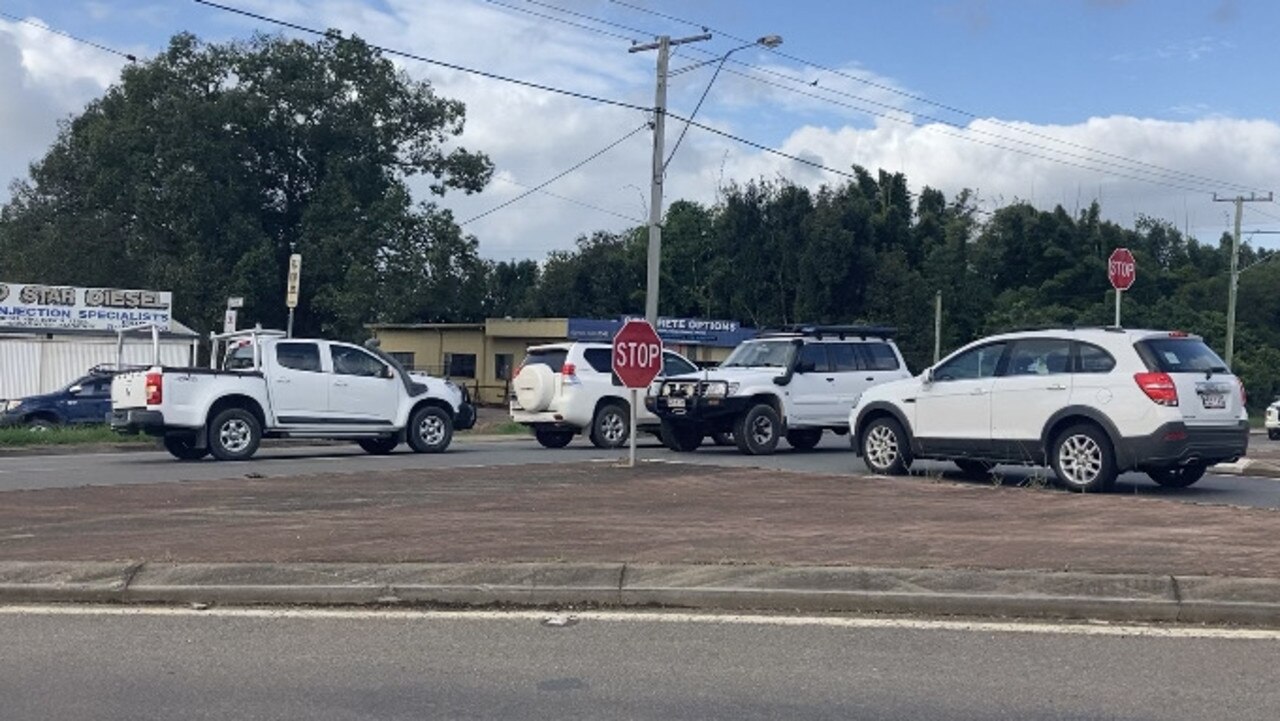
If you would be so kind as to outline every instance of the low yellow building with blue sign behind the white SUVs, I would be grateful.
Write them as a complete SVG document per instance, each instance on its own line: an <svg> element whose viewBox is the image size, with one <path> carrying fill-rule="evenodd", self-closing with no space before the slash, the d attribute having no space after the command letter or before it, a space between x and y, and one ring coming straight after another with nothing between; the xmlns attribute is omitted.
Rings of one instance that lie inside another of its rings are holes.
<svg viewBox="0 0 1280 721"><path fill-rule="evenodd" d="M484 323L379 323L369 329L381 350L404 368L465 384L480 403L506 403L525 350L563 341L609 342L620 320L581 318L489 318ZM658 321L666 346L695 362L718 362L755 334L733 321Z"/></svg>

